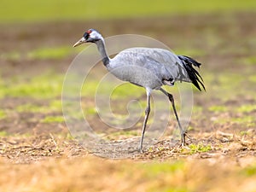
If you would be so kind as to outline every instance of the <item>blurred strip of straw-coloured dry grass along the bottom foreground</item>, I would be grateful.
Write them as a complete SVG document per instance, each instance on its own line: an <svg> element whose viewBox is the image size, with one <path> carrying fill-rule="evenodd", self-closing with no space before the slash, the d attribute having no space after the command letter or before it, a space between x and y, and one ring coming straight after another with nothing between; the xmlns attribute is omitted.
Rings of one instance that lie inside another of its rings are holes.
<svg viewBox="0 0 256 192"><path fill-rule="evenodd" d="M255 191L255 160L241 162L239 166L236 160L220 158L159 163L90 155L25 165L1 160L0 183L1 191Z"/></svg>

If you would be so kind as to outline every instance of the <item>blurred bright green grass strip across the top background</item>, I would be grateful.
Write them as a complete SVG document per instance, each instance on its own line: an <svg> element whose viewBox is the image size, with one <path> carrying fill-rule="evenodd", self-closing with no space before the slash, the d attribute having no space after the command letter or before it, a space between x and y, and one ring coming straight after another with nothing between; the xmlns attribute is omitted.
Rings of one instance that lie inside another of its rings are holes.
<svg viewBox="0 0 256 192"><path fill-rule="evenodd" d="M127 18L154 15L181 15L209 12L230 12L255 10L254 0L242 1L203 1L159 0L148 3L146 0L124 1L97 0L93 6L89 0L76 1L1 1L0 22L36 22L46 20L92 20ZM132 11L131 11L132 10Z"/></svg>

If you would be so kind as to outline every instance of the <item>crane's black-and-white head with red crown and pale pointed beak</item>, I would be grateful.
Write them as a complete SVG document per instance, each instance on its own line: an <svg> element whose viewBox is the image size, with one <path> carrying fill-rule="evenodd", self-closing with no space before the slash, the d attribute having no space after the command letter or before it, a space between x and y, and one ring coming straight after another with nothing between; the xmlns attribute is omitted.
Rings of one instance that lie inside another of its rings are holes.
<svg viewBox="0 0 256 192"><path fill-rule="evenodd" d="M89 29L84 32L83 38L80 38L79 41L73 45L73 47L84 43L96 43L97 41L102 39L103 38L100 32L97 32L95 29Z"/></svg>

